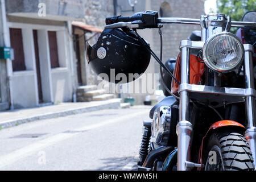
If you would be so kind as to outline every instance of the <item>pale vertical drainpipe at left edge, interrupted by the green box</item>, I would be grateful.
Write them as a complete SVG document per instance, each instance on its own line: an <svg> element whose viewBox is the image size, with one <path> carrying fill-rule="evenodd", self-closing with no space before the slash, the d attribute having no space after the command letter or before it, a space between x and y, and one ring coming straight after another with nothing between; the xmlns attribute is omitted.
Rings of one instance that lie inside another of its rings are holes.
<svg viewBox="0 0 256 182"><path fill-rule="evenodd" d="M2 17L2 28L3 28L3 43L4 46L9 47L9 34L7 32L7 20L6 20L6 8L5 8L5 0L1 0L1 17ZM7 67L7 80L8 80L8 89L9 89L9 100L10 100L10 109L14 109L13 105L13 86L11 82L11 76L12 76L12 65L11 65L11 60L7 59L6 60L6 67Z"/></svg>

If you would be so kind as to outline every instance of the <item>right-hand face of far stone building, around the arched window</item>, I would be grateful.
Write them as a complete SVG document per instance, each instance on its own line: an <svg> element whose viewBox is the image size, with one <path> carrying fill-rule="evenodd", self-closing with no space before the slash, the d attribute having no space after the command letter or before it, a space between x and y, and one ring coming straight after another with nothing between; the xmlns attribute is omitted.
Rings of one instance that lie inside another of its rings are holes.
<svg viewBox="0 0 256 182"><path fill-rule="evenodd" d="M146 0L147 1L147 0ZM170 10L167 15L171 17L182 18L200 18L204 13L203 0L157 0L151 1L152 10L159 11L163 3L170 5ZM168 9L167 9L168 10ZM184 25L184 24L166 24L162 28L163 31L163 61L168 60L170 57L177 57L179 53L179 44L181 40L187 39L193 30L200 30L198 25ZM154 50L157 55L160 53L160 39L158 30L153 31ZM156 63L155 67L159 67ZM159 69L156 69L158 71Z"/></svg>

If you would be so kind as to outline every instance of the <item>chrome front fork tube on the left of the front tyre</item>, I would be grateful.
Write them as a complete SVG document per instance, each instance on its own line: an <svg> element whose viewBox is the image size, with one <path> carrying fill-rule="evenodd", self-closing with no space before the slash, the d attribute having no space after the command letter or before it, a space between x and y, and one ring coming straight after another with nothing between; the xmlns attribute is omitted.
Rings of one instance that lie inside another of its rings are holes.
<svg viewBox="0 0 256 182"><path fill-rule="evenodd" d="M189 48L181 48L181 84L189 84ZM189 96L187 91L180 92L179 123L177 133L177 170L187 171L189 162L189 145L191 142L192 124L189 122Z"/></svg>

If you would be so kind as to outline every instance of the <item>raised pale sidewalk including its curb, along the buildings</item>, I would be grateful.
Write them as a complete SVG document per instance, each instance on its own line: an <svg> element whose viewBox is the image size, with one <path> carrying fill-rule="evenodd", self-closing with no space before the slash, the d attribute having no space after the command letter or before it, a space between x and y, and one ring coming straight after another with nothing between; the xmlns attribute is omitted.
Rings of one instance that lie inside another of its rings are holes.
<svg viewBox="0 0 256 182"><path fill-rule="evenodd" d="M118 109L121 107L118 98L107 101L65 102L58 105L34 107L31 109L16 109L0 113L0 130L17 126L22 123L64 117L66 115L86 113L102 109Z"/></svg>

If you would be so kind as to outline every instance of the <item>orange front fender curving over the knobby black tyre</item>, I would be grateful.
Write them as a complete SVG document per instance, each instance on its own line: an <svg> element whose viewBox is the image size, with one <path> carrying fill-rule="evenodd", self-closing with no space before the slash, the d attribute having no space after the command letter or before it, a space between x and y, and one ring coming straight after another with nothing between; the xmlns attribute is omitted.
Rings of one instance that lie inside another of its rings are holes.
<svg viewBox="0 0 256 182"><path fill-rule="evenodd" d="M218 121L216 123L213 123L212 126L209 127L209 130L207 131L207 134L204 136L201 146L200 146L200 150L199 150L199 163L202 164L203 166L203 151L204 151L204 143L205 140L209 137L209 135L212 133L213 130L217 130L220 129L222 127L238 127L242 130L246 130L245 126L241 125L240 123L236 122L236 121L231 121L231 120L222 120L222 121ZM201 170L202 168L199 168L199 170Z"/></svg>

